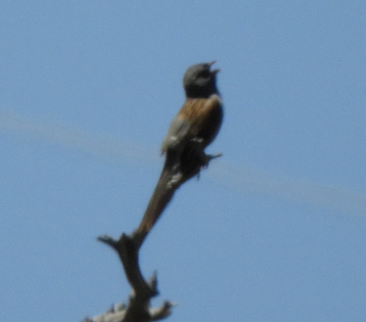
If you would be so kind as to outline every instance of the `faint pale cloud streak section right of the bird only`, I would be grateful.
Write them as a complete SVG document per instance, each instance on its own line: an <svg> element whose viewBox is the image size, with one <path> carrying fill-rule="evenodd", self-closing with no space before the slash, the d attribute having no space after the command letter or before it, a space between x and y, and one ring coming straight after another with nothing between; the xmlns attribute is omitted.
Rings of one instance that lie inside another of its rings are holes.
<svg viewBox="0 0 366 322"><path fill-rule="evenodd" d="M210 164L215 181L228 188L312 204L346 215L366 216L366 193L325 184L274 177L229 161Z"/></svg>

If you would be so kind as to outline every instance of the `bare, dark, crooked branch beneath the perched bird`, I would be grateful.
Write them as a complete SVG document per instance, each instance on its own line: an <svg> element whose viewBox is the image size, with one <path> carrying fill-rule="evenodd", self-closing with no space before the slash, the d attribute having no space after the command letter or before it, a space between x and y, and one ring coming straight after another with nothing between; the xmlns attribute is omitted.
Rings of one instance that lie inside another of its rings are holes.
<svg viewBox="0 0 366 322"><path fill-rule="evenodd" d="M140 225L131 235L123 233L117 240L108 235L98 237L99 241L111 246L117 252L132 291L127 306L120 304L117 308L112 307L106 313L94 318L86 318L84 322L158 321L171 314L171 307L175 305L172 302L164 301L160 307L150 307L150 299L158 294L157 277L154 273L148 281L143 278L138 252L176 189L190 178L199 175L200 170L208 166L210 160L221 156L221 154L208 156L192 147L188 152L176 154L169 151L167 153L163 170L145 214Z"/></svg>

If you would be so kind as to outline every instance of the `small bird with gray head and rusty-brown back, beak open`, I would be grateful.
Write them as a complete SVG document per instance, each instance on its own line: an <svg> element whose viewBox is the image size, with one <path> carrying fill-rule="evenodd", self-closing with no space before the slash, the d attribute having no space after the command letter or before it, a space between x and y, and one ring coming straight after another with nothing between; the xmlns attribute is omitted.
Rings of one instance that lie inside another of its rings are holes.
<svg viewBox="0 0 366 322"><path fill-rule="evenodd" d="M222 102L216 88L219 69L210 70L215 61L193 65L183 77L186 100L172 120L161 144L161 152L182 153L187 146L203 151L216 137L223 118Z"/></svg>

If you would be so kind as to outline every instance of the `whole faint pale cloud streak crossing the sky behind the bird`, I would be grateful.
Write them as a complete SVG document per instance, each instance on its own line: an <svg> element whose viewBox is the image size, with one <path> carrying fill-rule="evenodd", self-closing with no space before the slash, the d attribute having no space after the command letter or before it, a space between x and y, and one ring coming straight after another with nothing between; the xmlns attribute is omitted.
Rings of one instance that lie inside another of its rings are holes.
<svg viewBox="0 0 366 322"><path fill-rule="evenodd" d="M111 136L98 136L58 124L47 124L0 111L0 131L27 140L41 139L115 161L154 162L158 152L151 146ZM366 193L342 187L275 177L251 168L220 160L210 164L209 174L220 184L239 191L314 204L348 215L366 216Z"/></svg>

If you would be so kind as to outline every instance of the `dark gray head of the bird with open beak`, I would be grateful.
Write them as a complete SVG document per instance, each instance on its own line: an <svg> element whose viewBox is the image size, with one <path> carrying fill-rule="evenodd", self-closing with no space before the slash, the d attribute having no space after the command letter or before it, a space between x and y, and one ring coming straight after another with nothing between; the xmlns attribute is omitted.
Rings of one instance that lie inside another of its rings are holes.
<svg viewBox="0 0 366 322"><path fill-rule="evenodd" d="M188 98L207 98L217 93L216 74L219 69L210 70L215 61L193 65L183 76L183 87Z"/></svg>

